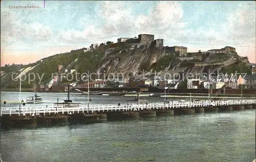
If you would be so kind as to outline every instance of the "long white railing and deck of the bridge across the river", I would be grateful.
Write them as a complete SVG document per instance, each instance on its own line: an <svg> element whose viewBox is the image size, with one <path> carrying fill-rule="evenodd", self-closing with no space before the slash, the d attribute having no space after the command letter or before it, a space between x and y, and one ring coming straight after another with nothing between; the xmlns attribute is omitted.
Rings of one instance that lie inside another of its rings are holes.
<svg viewBox="0 0 256 162"><path fill-rule="evenodd" d="M149 103L149 104L120 104L120 106L108 104L108 105L83 105L80 107L54 107L52 106L37 106L37 107L1 107L1 117L2 115L12 115L12 114L29 114L29 115L39 115L39 114L55 114L58 112L62 113L74 113L74 112L105 112L105 111L127 111L127 110L143 110L143 109L177 109L177 108L195 108L195 107L206 107L208 105L212 106L227 106L227 105L251 105L255 104L255 100L228 100L228 101L196 101L196 102L177 102L172 103Z"/></svg>

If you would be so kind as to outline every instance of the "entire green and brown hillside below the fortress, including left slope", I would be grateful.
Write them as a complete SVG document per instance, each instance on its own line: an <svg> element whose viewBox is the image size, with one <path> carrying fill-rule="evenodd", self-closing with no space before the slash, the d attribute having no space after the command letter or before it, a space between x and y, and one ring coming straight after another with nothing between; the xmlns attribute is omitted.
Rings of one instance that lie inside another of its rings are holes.
<svg viewBox="0 0 256 162"><path fill-rule="evenodd" d="M223 68L228 69L229 66L237 67L238 64L248 63L246 58L237 54L204 54L201 60L195 58L180 58L176 54L169 53L167 47L161 45L159 47L154 41L142 44L125 42L121 45L100 45L93 52L84 52L80 49L44 58L36 63L24 65L23 74L26 71L25 75L28 79L29 73L35 73L42 77L41 82L49 83L52 74L58 71L58 65L63 65L61 70L63 76L71 70L76 70L80 74L89 70L105 75L113 73L116 76L122 73L124 76L131 76L133 72L140 75L143 71L148 75L155 72L163 74L163 71L170 74L179 72L195 74L208 73L210 70L212 73ZM1 87L18 87L17 78L14 77L15 81L11 79L13 73L20 74L20 68L1 67ZM77 78L74 78L73 82L75 79ZM24 86L31 87L31 83L25 82L23 82ZM37 76L34 82L39 82Z"/></svg>

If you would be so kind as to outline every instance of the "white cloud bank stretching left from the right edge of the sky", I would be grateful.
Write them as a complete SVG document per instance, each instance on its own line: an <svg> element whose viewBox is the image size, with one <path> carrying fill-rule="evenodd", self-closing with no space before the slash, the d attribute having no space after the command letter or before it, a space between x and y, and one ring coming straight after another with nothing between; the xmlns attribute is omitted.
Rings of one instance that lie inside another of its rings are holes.
<svg viewBox="0 0 256 162"><path fill-rule="evenodd" d="M239 55L248 56L251 62L255 62L255 26L255 5L243 3L227 14L219 28L190 28L184 30L176 40L194 47L208 47L208 50L231 45Z"/></svg>

